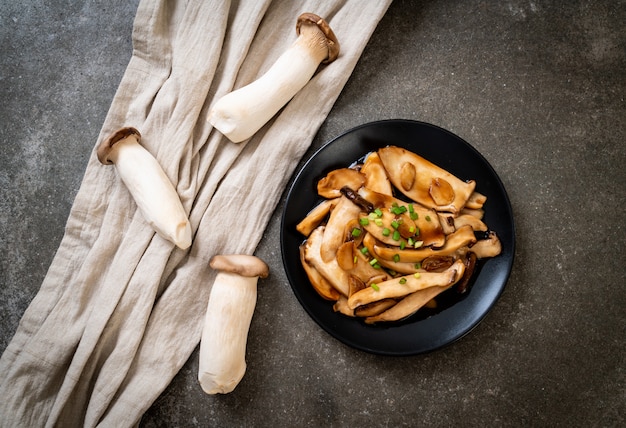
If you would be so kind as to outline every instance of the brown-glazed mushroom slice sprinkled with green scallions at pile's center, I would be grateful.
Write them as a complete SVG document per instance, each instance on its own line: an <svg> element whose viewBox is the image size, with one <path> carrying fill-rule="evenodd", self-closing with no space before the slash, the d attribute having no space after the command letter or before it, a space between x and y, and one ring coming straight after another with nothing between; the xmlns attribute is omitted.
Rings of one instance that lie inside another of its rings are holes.
<svg viewBox="0 0 626 428"><path fill-rule="evenodd" d="M374 192L366 187L359 189L359 195L380 209L382 217L370 220L364 227L381 242L400 246L402 240L399 238L413 237L424 246L439 247L444 244L446 237L434 210L419 204L411 204L409 208L409 204L401 199ZM413 212L410 212L411 210ZM398 225L397 228L393 226L394 222ZM399 235L394 236L393 232L396 229Z"/></svg>

